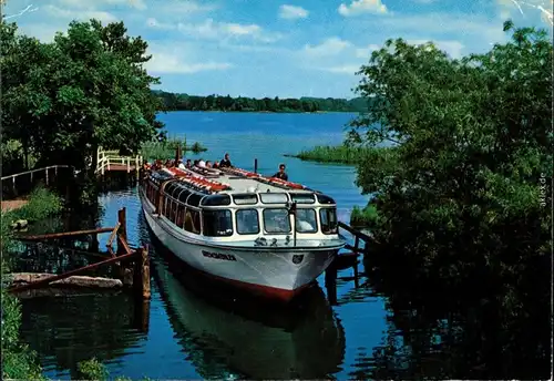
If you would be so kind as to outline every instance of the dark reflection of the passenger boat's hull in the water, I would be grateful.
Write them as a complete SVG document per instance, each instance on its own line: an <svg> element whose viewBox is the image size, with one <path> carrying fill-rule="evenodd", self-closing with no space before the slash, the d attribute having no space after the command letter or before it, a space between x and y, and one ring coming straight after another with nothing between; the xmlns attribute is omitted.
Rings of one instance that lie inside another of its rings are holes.
<svg viewBox="0 0 554 381"><path fill-rule="evenodd" d="M288 307L253 302L208 282L151 239L152 274L170 321L203 378L320 379L340 370L345 332L319 286Z"/></svg>

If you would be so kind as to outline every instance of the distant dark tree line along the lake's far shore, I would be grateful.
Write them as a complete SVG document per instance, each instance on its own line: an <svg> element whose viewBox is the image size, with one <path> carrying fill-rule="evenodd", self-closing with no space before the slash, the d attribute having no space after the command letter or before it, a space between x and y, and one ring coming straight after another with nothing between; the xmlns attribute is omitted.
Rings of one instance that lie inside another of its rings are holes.
<svg viewBox="0 0 554 381"><path fill-rule="evenodd" d="M230 95L188 95L164 91L154 91L163 101L168 111L235 111L235 112L365 112L368 110L368 100L355 97L352 100L335 97L232 97Z"/></svg>

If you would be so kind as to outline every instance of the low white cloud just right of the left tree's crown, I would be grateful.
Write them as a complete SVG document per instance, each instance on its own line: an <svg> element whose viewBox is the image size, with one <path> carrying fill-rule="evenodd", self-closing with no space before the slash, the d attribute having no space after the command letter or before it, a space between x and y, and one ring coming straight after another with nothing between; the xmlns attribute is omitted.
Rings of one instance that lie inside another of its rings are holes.
<svg viewBox="0 0 554 381"><path fill-rule="evenodd" d="M164 74L194 74L203 71L222 71L232 68L228 62L197 62L188 63L181 59L179 54L156 52L146 64L146 70L153 73Z"/></svg>

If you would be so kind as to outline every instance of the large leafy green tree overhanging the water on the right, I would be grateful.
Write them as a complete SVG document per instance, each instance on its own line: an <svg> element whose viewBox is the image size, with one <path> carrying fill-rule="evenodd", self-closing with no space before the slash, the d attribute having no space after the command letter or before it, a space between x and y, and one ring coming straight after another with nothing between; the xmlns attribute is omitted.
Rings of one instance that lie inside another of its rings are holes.
<svg viewBox="0 0 554 381"><path fill-rule="evenodd" d="M411 281L454 298L469 285L486 290L496 321L519 331L551 292L534 279L551 267L553 47L543 30L504 30L510 42L461 60L389 40L359 72L358 92L379 101L352 122L349 143L394 143L358 166L379 216L371 266L383 276L401 264ZM547 332L548 317L532 325Z"/></svg>

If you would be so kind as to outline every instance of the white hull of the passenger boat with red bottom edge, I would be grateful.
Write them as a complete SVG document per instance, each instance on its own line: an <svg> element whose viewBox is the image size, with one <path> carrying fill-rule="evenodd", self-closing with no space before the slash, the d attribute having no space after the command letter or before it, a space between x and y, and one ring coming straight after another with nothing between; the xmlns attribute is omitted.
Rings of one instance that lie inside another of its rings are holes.
<svg viewBox="0 0 554 381"><path fill-rule="evenodd" d="M144 199L142 205L154 235L185 264L219 280L283 300L291 299L321 275L339 249L224 247L179 233L165 217L155 215Z"/></svg>

